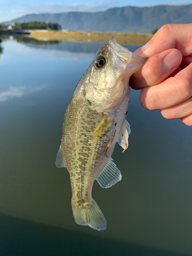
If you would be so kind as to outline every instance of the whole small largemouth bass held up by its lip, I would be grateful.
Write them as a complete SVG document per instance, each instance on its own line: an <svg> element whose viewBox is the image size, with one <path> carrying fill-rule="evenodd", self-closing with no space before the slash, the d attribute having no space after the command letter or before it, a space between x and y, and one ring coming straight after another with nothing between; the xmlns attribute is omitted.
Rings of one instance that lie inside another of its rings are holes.
<svg viewBox="0 0 192 256"><path fill-rule="evenodd" d="M95 180L102 188L121 180L111 156L116 142L123 152L128 147L129 79L144 61L112 36L96 53L69 102L56 166L70 174L72 211L79 225L106 229L105 217L92 199L92 187Z"/></svg>

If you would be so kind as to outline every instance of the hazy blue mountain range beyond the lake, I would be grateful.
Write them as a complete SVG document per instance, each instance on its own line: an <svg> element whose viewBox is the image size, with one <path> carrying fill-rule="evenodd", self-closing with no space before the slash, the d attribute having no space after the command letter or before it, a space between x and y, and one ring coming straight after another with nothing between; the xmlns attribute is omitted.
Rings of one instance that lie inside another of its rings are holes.
<svg viewBox="0 0 192 256"><path fill-rule="evenodd" d="M155 28L159 29L165 24L192 23L192 5L127 6L95 13L27 14L4 24L36 20L58 23L62 29L84 32L151 33Z"/></svg>

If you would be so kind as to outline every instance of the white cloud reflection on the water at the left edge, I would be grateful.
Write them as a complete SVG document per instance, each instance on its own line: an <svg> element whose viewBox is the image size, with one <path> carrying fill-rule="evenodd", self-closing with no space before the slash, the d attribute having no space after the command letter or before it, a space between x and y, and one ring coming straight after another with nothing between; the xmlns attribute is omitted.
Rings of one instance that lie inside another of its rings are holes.
<svg viewBox="0 0 192 256"><path fill-rule="evenodd" d="M39 86L39 87L34 87L34 88L29 88L29 87L25 87L25 86L10 87L8 91L4 91L4 92L0 93L0 102L7 101L7 100L15 98L15 97L21 97L21 96L24 96L25 94L40 91L44 88L45 88L45 86Z"/></svg>

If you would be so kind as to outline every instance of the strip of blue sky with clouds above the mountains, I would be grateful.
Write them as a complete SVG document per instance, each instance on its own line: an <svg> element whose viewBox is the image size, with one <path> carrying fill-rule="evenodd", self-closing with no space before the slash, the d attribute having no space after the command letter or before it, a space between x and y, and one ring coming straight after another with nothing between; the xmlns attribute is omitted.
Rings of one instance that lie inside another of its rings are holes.
<svg viewBox="0 0 192 256"><path fill-rule="evenodd" d="M134 3L134 4L133 4ZM122 6L153 6L153 5L186 5L192 4L189 1L166 1L166 0L117 0L117 1L96 1L96 0L0 0L0 22L6 22L13 18L21 17L30 13L61 13L69 11L97 12L105 11L112 7Z"/></svg>

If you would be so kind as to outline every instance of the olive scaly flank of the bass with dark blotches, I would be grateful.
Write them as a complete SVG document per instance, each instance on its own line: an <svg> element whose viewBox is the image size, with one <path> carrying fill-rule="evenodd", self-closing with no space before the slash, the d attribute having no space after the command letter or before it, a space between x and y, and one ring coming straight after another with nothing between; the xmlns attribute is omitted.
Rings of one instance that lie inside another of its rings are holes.
<svg viewBox="0 0 192 256"><path fill-rule="evenodd" d="M77 91L70 102L62 137L66 165L71 177L72 201L76 206L82 205L84 201L91 201L93 182L111 157L106 148L115 133L114 122L113 129L106 130L98 141L91 143L93 132L102 116L92 111L79 96ZM89 170L88 174L85 173L86 170Z"/></svg>

